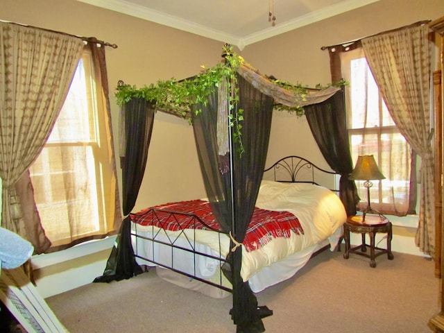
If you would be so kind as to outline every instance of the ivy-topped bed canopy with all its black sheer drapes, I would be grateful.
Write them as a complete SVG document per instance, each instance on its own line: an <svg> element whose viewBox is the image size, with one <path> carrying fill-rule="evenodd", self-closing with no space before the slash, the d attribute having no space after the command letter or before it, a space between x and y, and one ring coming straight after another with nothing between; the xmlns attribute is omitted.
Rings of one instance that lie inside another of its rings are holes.
<svg viewBox="0 0 444 333"><path fill-rule="evenodd" d="M306 114L325 159L336 173L341 174L339 195L345 217L345 212L355 214L357 194L355 183L348 180L352 161L346 132L341 131L345 128L343 92L333 86L309 93L303 87L295 89L296 86L260 75L240 56L232 53L230 46L225 45L224 52L225 63L194 78L173 83L159 82L143 89L122 85L117 92L118 101L123 106L126 133L121 139L126 154L122 169L123 214L127 217L107 268L95 281L121 280L142 272L131 241L131 237L135 237L135 232L131 236L131 219L137 218L130 212L142 182L155 110L173 113L191 120L206 200L216 223L212 228L222 232L221 238L225 241L221 244L228 247L222 266L223 276L230 282L232 292L232 320L237 325L237 332L264 332L262 318L271 315L272 311L257 305L248 283L249 275L255 274L245 274L243 278L241 271L245 265L243 253L247 252L244 250L247 231L255 214L259 188L266 185L262 176L273 108ZM135 161L139 163L136 165ZM265 205L264 208L268 207ZM334 224L341 225L339 222ZM337 227L330 229L336 231ZM290 234L296 236L298 228L293 230L296 232L291 231ZM309 233L309 230L307 228L304 232ZM302 232L299 230L299 233ZM168 238L167 234L165 237ZM191 238L195 238L194 234ZM287 239L271 238L273 241ZM221 254L210 255L216 259L221 257Z"/></svg>

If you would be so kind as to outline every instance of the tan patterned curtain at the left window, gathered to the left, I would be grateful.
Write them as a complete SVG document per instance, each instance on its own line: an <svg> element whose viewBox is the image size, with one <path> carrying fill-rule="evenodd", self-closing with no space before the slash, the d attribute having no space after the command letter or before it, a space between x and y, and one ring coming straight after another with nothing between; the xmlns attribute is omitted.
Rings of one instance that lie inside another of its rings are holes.
<svg viewBox="0 0 444 333"><path fill-rule="evenodd" d="M28 237L24 225L15 184L51 133L80 59L83 40L6 22L0 22L0 40L2 223L4 228L29 239L32 237ZM46 239L43 248L48 242ZM40 246L35 248L37 251Z"/></svg>

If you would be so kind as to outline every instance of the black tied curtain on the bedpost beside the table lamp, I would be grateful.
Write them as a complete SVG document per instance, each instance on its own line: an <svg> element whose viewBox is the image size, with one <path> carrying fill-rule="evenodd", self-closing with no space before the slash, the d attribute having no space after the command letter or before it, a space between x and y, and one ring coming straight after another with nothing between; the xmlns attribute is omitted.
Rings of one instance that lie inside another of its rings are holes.
<svg viewBox="0 0 444 333"><path fill-rule="evenodd" d="M359 202L356 184L349 180L353 162L350 155L343 89L330 99L304 107L311 133L330 168L341 174L339 196L347 215L356 214Z"/></svg>

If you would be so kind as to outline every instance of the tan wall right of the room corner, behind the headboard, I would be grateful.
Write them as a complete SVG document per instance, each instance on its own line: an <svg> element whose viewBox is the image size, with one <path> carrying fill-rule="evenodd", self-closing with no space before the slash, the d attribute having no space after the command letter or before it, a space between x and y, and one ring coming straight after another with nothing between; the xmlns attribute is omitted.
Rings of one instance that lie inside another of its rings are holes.
<svg viewBox="0 0 444 333"><path fill-rule="evenodd" d="M309 87L318 83L326 85L331 83L330 58L328 51L321 50L322 46L359 40L443 15L442 0L381 0L248 45L242 56L263 74L273 74L280 80ZM327 167L305 118L275 112L269 149L270 163L284 153L297 153Z"/></svg>

